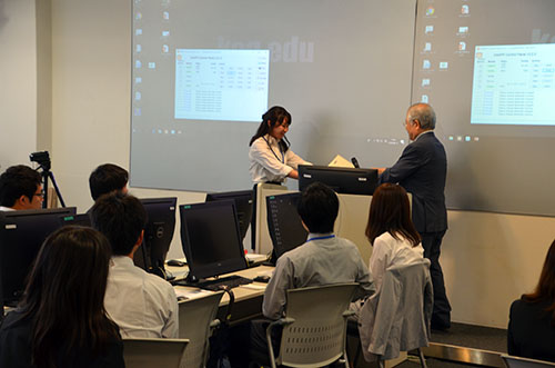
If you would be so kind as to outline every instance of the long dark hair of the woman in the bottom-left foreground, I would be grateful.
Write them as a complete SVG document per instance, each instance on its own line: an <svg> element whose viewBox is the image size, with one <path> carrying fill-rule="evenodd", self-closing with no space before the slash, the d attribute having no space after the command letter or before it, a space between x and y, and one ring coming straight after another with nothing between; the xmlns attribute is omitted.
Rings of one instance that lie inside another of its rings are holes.
<svg viewBox="0 0 555 368"><path fill-rule="evenodd" d="M32 321L33 366L56 367L57 357L83 348L95 357L120 339L104 310L110 256L107 238L91 228L64 227L44 240L19 305Z"/></svg>

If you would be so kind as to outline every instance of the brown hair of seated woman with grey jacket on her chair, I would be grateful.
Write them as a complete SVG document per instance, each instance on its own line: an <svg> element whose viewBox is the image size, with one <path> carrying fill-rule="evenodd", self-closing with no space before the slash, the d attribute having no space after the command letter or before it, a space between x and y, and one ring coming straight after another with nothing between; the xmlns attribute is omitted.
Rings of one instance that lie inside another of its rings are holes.
<svg viewBox="0 0 555 368"><path fill-rule="evenodd" d="M366 237L373 246L375 238L390 232L397 240L408 240L413 247L420 241L418 231L411 220L411 206L406 190L394 183L383 183L374 191L370 205Z"/></svg>

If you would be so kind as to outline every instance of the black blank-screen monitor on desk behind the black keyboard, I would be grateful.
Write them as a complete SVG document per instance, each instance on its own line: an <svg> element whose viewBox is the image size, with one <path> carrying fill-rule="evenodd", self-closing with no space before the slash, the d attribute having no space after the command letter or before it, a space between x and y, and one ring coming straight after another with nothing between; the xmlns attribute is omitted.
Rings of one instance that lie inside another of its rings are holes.
<svg viewBox="0 0 555 368"><path fill-rule="evenodd" d="M183 205L179 209L190 281L246 268L233 200Z"/></svg>

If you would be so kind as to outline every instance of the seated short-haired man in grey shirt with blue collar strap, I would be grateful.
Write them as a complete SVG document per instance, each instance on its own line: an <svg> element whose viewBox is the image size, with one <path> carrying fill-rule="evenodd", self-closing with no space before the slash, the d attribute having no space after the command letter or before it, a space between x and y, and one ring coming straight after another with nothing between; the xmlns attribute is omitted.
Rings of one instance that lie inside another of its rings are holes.
<svg viewBox="0 0 555 368"><path fill-rule="evenodd" d="M262 304L264 317L278 319L283 316L287 289L359 282L355 300L372 295L374 292L372 275L359 249L352 241L337 238L333 233L333 225L339 212L335 192L323 183L312 183L303 191L297 211L310 231L309 239L278 259L264 292ZM268 351L265 342L268 325L269 321L252 324L251 352L255 358ZM274 348L278 351L279 341L275 342Z"/></svg>

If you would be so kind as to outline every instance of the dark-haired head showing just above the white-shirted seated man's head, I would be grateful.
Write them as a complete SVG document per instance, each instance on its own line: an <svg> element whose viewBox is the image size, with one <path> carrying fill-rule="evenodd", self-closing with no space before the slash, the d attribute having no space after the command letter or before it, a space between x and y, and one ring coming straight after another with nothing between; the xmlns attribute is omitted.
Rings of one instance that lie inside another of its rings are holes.
<svg viewBox="0 0 555 368"><path fill-rule="evenodd" d="M113 163L101 165L89 177L91 197L97 200L100 196L115 190L125 195L128 192L128 170Z"/></svg>

